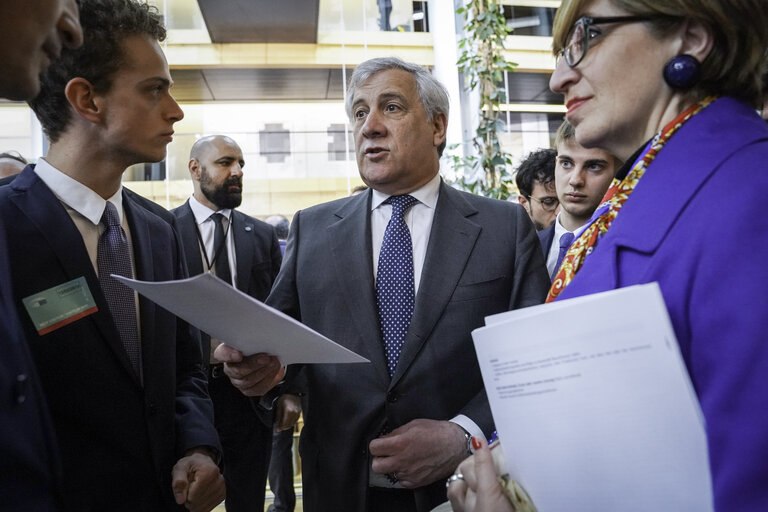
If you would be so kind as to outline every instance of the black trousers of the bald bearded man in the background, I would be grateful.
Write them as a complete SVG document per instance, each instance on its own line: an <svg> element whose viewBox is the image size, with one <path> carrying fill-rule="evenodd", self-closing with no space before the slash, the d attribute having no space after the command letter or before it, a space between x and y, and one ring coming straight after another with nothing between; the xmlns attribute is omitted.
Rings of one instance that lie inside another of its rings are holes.
<svg viewBox="0 0 768 512"><path fill-rule="evenodd" d="M272 428L265 425L244 396L221 373L209 373L208 391L224 457L227 512L261 512L272 447Z"/></svg>

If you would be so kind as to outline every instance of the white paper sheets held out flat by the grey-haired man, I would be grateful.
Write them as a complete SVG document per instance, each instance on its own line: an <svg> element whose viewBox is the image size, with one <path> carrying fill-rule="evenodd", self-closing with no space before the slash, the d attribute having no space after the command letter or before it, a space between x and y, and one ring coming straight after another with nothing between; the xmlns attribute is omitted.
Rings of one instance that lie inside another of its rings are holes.
<svg viewBox="0 0 768 512"><path fill-rule="evenodd" d="M283 365L369 362L210 273L163 282L112 277L245 355L265 352Z"/></svg>

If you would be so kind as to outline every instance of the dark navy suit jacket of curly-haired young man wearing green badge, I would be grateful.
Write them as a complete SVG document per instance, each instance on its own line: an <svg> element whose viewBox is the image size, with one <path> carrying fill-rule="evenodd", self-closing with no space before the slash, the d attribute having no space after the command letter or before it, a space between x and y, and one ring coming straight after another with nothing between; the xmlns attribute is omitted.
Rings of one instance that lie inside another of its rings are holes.
<svg viewBox="0 0 768 512"><path fill-rule="evenodd" d="M123 204L138 279L185 277L171 227ZM65 500L74 510L176 509L171 470L196 446L220 449L206 391L199 337L139 299L143 383L133 372L80 232L28 166L0 188L14 302L84 277L98 312L45 335L22 313L61 447Z"/></svg>

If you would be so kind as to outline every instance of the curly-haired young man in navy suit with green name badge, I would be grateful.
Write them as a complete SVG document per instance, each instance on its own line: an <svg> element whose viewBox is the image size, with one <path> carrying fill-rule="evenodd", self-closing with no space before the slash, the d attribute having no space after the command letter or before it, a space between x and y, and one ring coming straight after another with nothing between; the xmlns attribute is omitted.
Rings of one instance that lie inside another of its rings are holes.
<svg viewBox="0 0 768 512"><path fill-rule="evenodd" d="M31 102L51 146L0 188L13 299L51 410L72 510L207 511L224 497L195 331L111 274L184 277L171 227L123 194L183 116L156 9L81 0L84 44Z"/></svg>

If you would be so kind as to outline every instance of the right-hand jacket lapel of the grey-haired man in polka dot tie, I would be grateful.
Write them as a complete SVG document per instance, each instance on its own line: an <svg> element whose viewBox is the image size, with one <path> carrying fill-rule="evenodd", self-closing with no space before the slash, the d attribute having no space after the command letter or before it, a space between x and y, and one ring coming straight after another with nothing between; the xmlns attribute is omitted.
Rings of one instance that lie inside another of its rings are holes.
<svg viewBox="0 0 768 512"><path fill-rule="evenodd" d="M413 319L392 376L392 386L413 363L453 295L480 234L480 226L467 219L476 211L461 194L440 183Z"/></svg>

